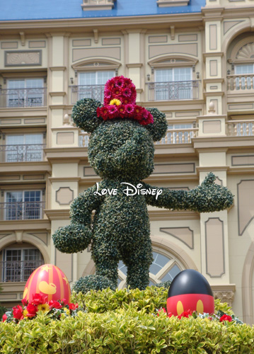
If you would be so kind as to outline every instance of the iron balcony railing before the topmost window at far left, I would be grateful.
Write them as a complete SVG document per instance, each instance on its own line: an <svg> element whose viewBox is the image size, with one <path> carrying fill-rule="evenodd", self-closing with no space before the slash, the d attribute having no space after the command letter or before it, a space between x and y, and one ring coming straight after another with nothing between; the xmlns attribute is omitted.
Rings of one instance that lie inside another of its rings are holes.
<svg viewBox="0 0 254 354"><path fill-rule="evenodd" d="M47 105L47 89L0 89L1 108L42 107Z"/></svg>

